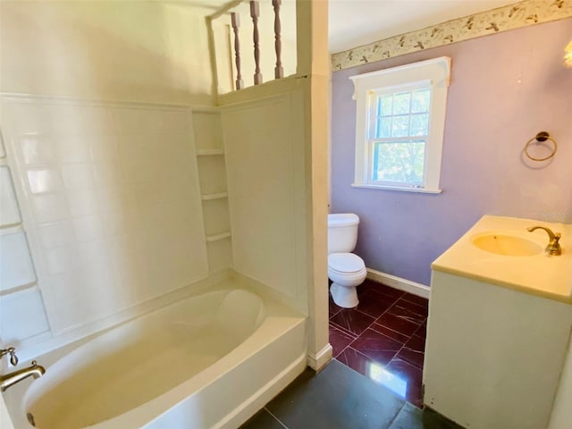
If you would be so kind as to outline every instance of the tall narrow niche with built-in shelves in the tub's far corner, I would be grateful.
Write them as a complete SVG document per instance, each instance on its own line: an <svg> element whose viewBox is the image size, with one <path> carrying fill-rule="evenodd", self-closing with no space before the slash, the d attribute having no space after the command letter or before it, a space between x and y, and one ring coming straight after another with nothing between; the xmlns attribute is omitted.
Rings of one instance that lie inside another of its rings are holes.
<svg viewBox="0 0 572 429"><path fill-rule="evenodd" d="M198 177L203 200L210 273L232 268L231 216L223 149L223 124L217 111L193 112Z"/></svg>

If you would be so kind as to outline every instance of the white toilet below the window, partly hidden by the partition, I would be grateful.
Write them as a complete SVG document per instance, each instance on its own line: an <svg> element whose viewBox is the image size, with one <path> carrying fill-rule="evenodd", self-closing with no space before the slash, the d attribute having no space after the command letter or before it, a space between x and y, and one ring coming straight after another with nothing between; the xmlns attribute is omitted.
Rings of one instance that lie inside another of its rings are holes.
<svg viewBox="0 0 572 429"><path fill-rule="evenodd" d="M366 264L353 253L357 243L357 214L328 214L328 277L330 291L338 306L353 308L357 300L356 286L366 280Z"/></svg>

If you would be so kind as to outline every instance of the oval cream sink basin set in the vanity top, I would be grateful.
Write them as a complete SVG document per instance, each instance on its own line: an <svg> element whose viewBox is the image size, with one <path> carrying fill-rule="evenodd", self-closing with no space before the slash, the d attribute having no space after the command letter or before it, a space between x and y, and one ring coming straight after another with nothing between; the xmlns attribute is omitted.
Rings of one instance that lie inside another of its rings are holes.
<svg viewBox="0 0 572 429"><path fill-rule="evenodd" d="M517 235L484 232L473 238L473 244L486 252L506 257L532 257L543 253L543 245Z"/></svg>

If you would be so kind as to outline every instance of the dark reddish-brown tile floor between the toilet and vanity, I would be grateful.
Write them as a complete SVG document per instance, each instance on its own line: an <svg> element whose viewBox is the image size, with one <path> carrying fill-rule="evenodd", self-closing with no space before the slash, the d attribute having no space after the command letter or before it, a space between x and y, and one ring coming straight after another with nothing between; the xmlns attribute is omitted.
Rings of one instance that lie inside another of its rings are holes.
<svg viewBox="0 0 572 429"><path fill-rule="evenodd" d="M333 357L420 408L429 301L370 280L357 294L349 309L330 297Z"/></svg>

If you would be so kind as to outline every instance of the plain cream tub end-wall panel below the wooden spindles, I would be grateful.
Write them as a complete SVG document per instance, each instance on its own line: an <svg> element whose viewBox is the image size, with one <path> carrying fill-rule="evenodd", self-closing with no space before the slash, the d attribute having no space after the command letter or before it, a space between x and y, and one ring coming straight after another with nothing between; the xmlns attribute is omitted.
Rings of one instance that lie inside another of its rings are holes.
<svg viewBox="0 0 572 429"><path fill-rule="evenodd" d="M304 93L291 86L223 106L224 146L234 269L307 314Z"/></svg>

